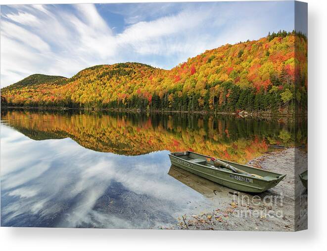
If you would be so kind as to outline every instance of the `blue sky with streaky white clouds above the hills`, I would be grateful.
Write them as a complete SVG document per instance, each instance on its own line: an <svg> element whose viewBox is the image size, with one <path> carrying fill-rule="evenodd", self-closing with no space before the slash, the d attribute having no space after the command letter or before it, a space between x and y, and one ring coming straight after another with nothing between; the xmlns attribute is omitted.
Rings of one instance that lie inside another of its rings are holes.
<svg viewBox="0 0 327 251"><path fill-rule="evenodd" d="M227 43L294 29L293 1L1 6L1 87L133 61L171 69Z"/></svg>

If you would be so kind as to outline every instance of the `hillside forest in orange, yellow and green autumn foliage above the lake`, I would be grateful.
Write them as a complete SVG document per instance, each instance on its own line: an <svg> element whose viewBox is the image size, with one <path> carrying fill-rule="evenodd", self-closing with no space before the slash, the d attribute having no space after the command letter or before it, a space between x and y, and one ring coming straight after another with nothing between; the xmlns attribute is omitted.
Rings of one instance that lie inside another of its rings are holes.
<svg viewBox="0 0 327 251"><path fill-rule="evenodd" d="M93 66L69 79L32 76L2 88L1 104L279 113L294 113L296 107L303 112L307 39L273 33L207 50L171 70L118 63Z"/></svg>

